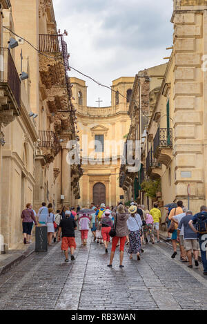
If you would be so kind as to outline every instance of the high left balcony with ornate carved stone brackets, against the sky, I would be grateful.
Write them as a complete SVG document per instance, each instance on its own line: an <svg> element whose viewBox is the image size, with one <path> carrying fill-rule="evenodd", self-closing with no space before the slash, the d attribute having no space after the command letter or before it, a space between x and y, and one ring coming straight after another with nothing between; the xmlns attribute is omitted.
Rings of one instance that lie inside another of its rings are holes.
<svg viewBox="0 0 207 324"><path fill-rule="evenodd" d="M69 112L72 91L66 71L69 69L67 44L63 35L39 35L40 90L50 113Z"/></svg>

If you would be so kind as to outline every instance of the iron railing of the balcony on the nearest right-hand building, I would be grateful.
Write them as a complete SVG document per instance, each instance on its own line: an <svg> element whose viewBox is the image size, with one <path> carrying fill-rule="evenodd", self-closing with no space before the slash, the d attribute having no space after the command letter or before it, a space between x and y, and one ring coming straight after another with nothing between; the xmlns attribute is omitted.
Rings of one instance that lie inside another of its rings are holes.
<svg viewBox="0 0 207 324"><path fill-rule="evenodd" d="M154 138L154 152L158 149L172 147L172 128L158 128Z"/></svg>

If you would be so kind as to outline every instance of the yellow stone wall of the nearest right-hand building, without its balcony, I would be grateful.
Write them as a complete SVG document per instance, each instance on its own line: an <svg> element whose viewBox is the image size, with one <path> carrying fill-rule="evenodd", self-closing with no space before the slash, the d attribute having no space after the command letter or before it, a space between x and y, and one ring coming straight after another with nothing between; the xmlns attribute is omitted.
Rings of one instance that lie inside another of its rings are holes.
<svg viewBox="0 0 207 324"><path fill-rule="evenodd" d="M161 166L161 200L164 204L183 200L187 206L187 187L190 184L190 209L195 213L207 203L207 78L203 69L207 53L207 16L203 10L206 1L175 1L175 4L177 10L183 11L175 11L172 15L174 47L150 120L149 133L155 137L158 126L166 128L166 117L162 116L166 114L169 98L173 149L168 152L172 158L170 163ZM191 8L179 5L198 7L190 12ZM157 123L153 121L156 113L161 113Z"/></svg>

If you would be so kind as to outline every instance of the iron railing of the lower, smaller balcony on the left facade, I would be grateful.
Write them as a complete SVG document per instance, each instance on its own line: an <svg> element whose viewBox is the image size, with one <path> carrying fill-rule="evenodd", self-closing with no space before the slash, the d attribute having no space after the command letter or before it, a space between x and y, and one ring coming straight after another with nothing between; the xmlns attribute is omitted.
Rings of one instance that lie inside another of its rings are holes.
<svg viewBox="0 0 207 324"><path fill-rule="evenodd" d="M55 153L59 152L60 142L52 131L39 131L39 148L53 149Z"/></svg>

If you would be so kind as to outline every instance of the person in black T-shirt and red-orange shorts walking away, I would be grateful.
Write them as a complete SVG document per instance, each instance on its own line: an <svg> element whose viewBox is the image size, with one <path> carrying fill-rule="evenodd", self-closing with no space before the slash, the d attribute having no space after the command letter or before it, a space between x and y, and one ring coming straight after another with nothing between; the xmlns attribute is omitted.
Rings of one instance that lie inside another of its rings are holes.
<svg viewBox="0 0 207 324"><path fill-rule="evenodd" d="M69 262L68 259L68 249L70 249L70 259L71 261L75 260L74 252L76 249L75 242L75 230L77 229L77 224L73 218L70 217L70 211L66 211L65 218L61 220L58 229L58 241L61 240L62 233L62 242L61 242L61 250L64 251L66 260L65 262Z"/></svg>

